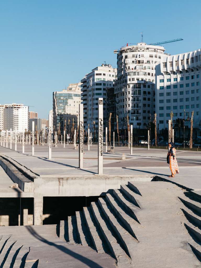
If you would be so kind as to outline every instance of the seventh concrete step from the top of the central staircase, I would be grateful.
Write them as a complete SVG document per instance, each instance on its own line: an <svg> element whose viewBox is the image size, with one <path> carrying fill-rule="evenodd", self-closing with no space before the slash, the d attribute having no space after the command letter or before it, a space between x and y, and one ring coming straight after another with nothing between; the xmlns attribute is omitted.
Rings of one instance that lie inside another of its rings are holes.
<svg viewBox="0 0 201 268"><path fill-rule="evenodd" d="M91 240L98 253L104 253L102 240L99 237L98 229L95 226L94 219L90 207L83 207L83 214L86 220L86 225L89 230Z"/></svg>

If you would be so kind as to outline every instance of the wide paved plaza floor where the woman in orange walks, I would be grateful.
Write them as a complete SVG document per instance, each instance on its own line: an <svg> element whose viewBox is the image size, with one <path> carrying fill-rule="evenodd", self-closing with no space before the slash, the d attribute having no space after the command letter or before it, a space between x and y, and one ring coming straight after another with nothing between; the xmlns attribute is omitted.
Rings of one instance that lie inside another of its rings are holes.
<svg viewBox="0 0 201 268"><path fill-rule="evenodd" d="M54 146L54 145L53 145ZM14 144L13 144L14 148ZM109 147L108 147L109 148ZM31 144L25 144L25 154L22 154L22 144L17 144L17 151L9 148L0 147L0 154L11 157L12 159L31 169L40 177L59 178L66 176L97 176L98 156L97 146L84 146L84 165L83 169L78 168L78 150L73 150L73 145L69 144L64 148L52 147L52 159L48 160L48 147L35 145L35 155L31 155ZM126 159L122 161L122 154ZM196 151L177 151L177 161L180 174L174 178L170 175L169 165L166 163L167 150L147 148L133 148L130 155L128 147L115 147L115 153L104 153L103 174L106 176L155 176L166 178L178 184L184 185L193 190L201 190L201 152Z"/></svg>

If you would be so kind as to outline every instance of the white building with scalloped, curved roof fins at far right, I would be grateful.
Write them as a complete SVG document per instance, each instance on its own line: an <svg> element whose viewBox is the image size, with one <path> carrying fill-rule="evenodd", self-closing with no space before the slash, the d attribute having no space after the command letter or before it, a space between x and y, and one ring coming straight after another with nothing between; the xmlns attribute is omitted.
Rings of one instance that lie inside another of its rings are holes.
<svg viewBox="0 0 201 268"><path fill-rule="evenodd" d="M201 136L201 49L168 56L156 66L156 103L159 129L168 127L171 111L173 120L190 118L194 111L193 129ZM190 121L185 121L190 127Z"/></svg>

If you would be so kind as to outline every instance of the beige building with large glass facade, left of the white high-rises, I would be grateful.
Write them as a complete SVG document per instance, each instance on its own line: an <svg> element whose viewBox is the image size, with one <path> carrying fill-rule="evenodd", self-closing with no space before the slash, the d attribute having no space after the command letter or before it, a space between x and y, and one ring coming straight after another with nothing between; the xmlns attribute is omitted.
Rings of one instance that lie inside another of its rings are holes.
<svg viewBox="0 0 201 268"><path fill-rule="evenodd" d="M53 92L53 128L54 131L64 131L64 121L72 116L79 116L81 102L81 83L69 84L67 89Z"/></svg>

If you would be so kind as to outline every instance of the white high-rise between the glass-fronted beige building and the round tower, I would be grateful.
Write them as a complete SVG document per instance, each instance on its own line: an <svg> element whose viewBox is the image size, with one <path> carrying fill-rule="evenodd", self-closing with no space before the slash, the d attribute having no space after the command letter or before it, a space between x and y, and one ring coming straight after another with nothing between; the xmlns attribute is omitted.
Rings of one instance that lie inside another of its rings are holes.
<svg viewBox="0 0 201 268"><path fill-rule="evenodd" d="M92 69L81 80L81 100L84 109L84 129L88 129L88 124L93 129L93 122L98 128L98 98L103 98L103 118L106 118L106 88L114 87L117 69L110 64L102 64ZM106 120L103 121L104 127Z"/></svg>

